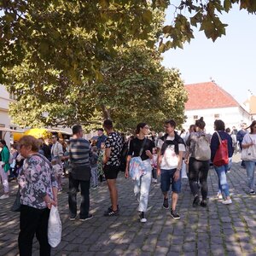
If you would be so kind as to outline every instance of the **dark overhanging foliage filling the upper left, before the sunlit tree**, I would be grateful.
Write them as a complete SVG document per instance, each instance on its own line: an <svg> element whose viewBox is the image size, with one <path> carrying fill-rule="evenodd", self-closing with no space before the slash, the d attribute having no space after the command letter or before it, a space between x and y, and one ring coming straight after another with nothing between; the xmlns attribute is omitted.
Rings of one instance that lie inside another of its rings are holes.
<svg viewBox="0 0 256 256"><path fill-rule="evenodd" d="M137 0L3 0L0 2L0 83L9 68L30 68L101 78L99 67L127 37L149 38L152 9Z"/></svg>

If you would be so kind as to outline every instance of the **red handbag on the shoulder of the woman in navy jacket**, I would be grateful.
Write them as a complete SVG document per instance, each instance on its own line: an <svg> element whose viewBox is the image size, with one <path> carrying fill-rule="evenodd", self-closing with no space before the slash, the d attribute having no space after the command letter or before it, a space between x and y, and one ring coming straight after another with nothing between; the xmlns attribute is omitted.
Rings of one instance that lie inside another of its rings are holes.
<svg viewBox="0 0 256 256"><path fill-rule="evenodd" d="M213 158L213 166L225 166L229 163L229 149L228 149L228 141L227 140L222 140L221 137L218 134L218 131L216 131L218 135L218 149L216 151L216 154L214 155Z"/></svg>

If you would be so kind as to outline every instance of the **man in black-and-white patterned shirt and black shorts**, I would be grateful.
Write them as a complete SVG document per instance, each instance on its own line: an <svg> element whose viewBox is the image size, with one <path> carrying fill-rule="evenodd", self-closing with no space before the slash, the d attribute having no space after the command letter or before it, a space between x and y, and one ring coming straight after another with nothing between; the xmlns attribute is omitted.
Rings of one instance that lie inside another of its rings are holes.
<svg viewBox="0 0 256 256"><path fill-rule="evenodd" d="M115 216L119 213L118 208L118 191L116 188L116 178L120 169L120 154L123 148L123 137L113 131L113 123L107 119L103 123L105 131L107 131L108 137L105 142L105 155L103 158L104 174L108 182L108 189L110 193L110 199L112 206L104 212L104 216Z"/></svg>

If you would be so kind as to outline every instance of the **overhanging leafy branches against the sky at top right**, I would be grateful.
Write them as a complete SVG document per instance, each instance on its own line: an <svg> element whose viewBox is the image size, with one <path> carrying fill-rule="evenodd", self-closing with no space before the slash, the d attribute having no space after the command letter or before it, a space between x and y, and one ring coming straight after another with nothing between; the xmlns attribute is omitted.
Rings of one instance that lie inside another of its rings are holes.
<svg viewBox="0 0 256 256"><path fill-rule="evenodd" d="M205 32L207 38L214 42L225 35L225 27L219 16L228 13L235 4L240 4L240 9L247 9L249 14L255 14L256 1L254 0L182 0L170 2L173 9L172 24L163 28L164 38L160 39L160 51L170 48L183 48L185 42L194 38L195 27Z"/></svg>

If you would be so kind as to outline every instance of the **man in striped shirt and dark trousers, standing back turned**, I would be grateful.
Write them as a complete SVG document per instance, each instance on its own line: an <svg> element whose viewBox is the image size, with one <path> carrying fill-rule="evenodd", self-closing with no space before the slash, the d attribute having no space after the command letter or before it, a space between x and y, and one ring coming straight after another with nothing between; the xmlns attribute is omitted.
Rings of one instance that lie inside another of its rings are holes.
<svg viewBox="0 0 256 256"><path fill-rule="evenodd" d="M69 175L69 219L77 217L77 193L81 187L81 205L79 219L81 221L92 218L90 208L90 143L83 138L81 125L73 126L73 139L70 140L69 159L71 173Z"/></svg>

